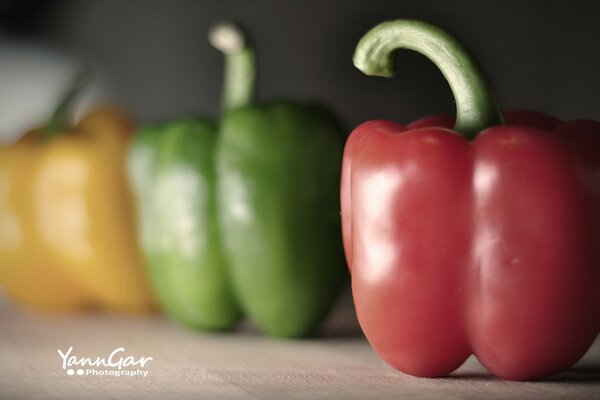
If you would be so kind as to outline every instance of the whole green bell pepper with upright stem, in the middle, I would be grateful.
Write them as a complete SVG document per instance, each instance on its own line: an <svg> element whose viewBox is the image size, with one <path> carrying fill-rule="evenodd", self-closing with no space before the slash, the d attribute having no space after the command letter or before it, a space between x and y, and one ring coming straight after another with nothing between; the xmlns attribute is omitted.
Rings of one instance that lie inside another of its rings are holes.
<svg viewBox="0 0 600 400"><path fill-rule="evenodd" d="M255 57L231 23L220 123L159 123L135 137L129 173L157 297L186 325L246 314L266 334L309 333L345 276L339 217L342 130L310 104L252 102Z"/></svg>

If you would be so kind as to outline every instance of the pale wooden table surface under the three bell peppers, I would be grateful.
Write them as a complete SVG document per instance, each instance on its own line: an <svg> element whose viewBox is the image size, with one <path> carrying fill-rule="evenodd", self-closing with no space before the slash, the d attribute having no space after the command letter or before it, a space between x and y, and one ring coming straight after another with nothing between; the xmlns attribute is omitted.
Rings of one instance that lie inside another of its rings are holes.
<svg viewBox="0 0 600 400"><path fill-rule="evenodd" d="M159 316L43 315L0 296L0 398L18 399L600 399L600 341L570 371L539 382L491 377L473 357L446 378L388 367L348 300L322 333L261 337L250 327L206 334ZM142 376L70 376L57 349L78 357L152 357Z"/></svg>

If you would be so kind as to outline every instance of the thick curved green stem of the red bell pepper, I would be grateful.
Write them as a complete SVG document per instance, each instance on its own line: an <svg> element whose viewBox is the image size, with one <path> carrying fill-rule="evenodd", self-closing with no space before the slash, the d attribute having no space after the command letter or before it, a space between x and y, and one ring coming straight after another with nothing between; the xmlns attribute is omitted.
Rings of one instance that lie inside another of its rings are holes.
<svg viewBox="0 0 600 400"><path fill-rule="evenodd" d="M494 89L475 58L434 25L411 20L379 24L356 46L354 65L367 75L392 77L393 52L399 48L423 54L444 74L456 101L456 132L473 139L483 129L504 123Z"/></svg>

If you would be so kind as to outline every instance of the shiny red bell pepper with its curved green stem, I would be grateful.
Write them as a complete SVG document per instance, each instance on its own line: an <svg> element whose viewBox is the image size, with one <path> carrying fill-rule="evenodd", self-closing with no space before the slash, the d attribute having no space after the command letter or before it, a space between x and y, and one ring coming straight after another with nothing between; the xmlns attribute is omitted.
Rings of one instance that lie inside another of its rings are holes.
<svg viewBox="0 0 600 400"><path fill-rule="evenodd" d="M440 68L457 119L369 121L346 143L344 246L367 339L417 376L470 354L506 379L568 368L600 330L600 123L503 118L472 56L419 21L375 27L354 63L392 76L398 48Z"/></svg>

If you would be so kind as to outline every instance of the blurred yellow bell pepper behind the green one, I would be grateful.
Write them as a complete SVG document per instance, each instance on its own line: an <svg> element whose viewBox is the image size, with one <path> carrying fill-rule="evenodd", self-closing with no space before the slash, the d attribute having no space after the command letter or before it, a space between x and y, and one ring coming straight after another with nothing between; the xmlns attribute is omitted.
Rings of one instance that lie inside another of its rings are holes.
<svg viewBox="0 0 600 400"><path fill-rule="evenodd" d="M0 148L0 285L39 309L151 310L124 171L132 124L103 108L48 127Z"/></svg>

